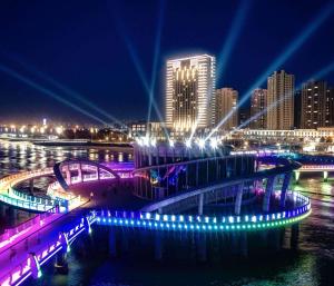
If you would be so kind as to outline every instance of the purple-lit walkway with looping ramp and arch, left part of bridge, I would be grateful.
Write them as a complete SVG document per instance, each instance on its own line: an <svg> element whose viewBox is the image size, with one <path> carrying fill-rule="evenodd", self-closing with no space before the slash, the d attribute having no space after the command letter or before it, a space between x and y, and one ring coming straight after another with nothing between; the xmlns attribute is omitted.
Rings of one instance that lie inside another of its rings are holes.
<svg viewBox="0 0 334 286"><path fill-rule="evenodd" d="M121 169L120 175L122 172ZM66 160L56 164L53 168L22 171L2 178L1 211L7 205L12 211L22 209L39 214L18 227L6 229L0 236L0 285L19 285L30 276L39 277L40 267L45 263L58 253L65 255L85 229L90 231L95 215L81 208L84 205L89 206L89 201L71 194L70 186L107 179L118 183L120 178L128 177L120 175L94 161ZM30 185L31 181L33 185L33 179L46 176L57 179L48 187L49 198L39 198L18 189L18 185L23 181L30 180ZM72 224L72 220L76 223ZM41 236L47 239L41 239Z"/></svg>

